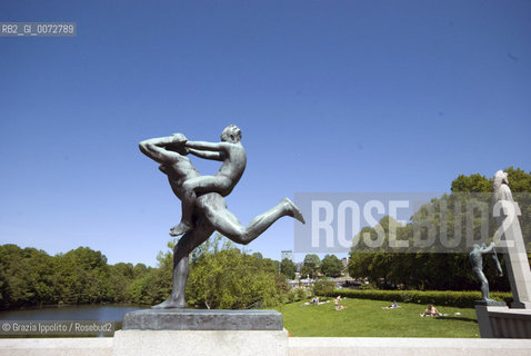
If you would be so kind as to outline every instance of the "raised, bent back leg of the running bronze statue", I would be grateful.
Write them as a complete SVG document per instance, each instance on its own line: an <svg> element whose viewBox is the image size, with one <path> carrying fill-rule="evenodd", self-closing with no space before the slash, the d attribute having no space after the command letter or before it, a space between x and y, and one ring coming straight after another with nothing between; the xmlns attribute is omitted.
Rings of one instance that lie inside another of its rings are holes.
<svg viewBox="0 0 531 356"><path fill-rule="evenodd" d="M238 244L247 245L266 231L274 221L283 216L291 216L304 224L299 208L288 198L282 199L275 207L257 216L247 227L241 226L236 216L227 208L206 206L208 220L216 230Z"/></svg>

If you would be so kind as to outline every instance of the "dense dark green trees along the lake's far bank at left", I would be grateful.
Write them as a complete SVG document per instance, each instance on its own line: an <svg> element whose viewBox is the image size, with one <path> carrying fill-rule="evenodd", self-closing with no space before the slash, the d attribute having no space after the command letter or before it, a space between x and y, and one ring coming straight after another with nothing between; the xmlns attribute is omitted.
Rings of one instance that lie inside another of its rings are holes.
<svg viewBox="0 0 531 356"><path fill-rule="evenodd" d="M34 248L0 246L0 308L52 305L129 303L129 288L152 268L108 265L100 251L79 247L49 256Z"/></svg>

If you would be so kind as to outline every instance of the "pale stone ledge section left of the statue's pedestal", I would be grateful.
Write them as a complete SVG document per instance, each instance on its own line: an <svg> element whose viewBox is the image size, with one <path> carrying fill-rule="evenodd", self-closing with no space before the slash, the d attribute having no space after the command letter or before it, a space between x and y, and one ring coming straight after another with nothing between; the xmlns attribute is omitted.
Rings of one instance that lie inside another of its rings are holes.
<svg viewBox="0 0 531 356"><path fill-rule="evenodd" d="M112 337L0 338L0 356L111 356Z"/></svg>

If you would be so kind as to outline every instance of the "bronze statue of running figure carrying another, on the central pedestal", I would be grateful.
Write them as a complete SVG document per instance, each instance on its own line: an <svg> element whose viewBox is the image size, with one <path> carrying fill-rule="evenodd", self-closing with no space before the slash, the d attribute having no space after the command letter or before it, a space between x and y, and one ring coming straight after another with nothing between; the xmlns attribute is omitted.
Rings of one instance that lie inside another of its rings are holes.
<svg viewBox="0 0 531 356"><path fill-rule="evenodd" d="M173 249L173 288L166 301L152 308L186 307L189 255L214 231L247 245L283 216L304 224L302 212L288 198L257 216L247 227L227 209L223 197L232 191L247 164L240 140L241 130L230 125L221 134L221 142L189 141L182 134L140 142L140 150L160 164L160 171L168 176L171 189L182 201L181 222L170 229L172 236L184 234ZM223 164L214 176L201 176L186 157L188 154Z"/></svg>

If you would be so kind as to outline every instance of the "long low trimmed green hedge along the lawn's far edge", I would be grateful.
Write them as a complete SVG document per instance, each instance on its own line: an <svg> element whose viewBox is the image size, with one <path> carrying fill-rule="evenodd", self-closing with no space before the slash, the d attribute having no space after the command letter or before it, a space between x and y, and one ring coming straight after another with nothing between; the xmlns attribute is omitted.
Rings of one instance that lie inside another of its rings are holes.
<svg viewBox="0 0 531 356"><path fill-rule="evenodd" d="M374 300L397 300L402 303L433 304L437 306L453 306L460 308L473 308L474 301L481 299L480 291L453 291L453 290L358 290L358 289L335 289L332 293L325 293L327 297L348 297L359 299ZM492 291L491 298L503 300L508 305L512 301L512 294L505 291Z"/></svg>

